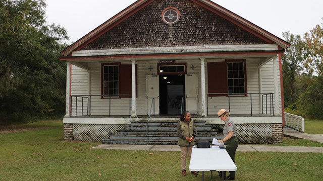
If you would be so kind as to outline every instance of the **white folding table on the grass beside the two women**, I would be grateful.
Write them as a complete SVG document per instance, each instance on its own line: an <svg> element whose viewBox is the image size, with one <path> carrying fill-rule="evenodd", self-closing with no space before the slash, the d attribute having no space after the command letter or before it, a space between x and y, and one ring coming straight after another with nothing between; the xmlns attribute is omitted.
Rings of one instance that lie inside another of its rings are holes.
<svg viewBox="0 0 323 181"><path fill-rule="evenodd" d="M189 170L201 171L203 181L204 171L236 171L237 166L225 149L193 147Z"/></svg>

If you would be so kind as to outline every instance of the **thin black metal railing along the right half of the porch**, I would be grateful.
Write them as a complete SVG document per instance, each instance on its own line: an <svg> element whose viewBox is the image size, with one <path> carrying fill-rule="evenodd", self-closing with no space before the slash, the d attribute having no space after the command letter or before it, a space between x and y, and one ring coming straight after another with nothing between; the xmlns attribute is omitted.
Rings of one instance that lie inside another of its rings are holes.
<svg viewBox="0 0 323 181"><path fill-rule="evenodd" d="M270 112L270 115L273 115L274 116L274 93L243 93L243 94L237 94L237 93L210 93L210 94L207 94L207 99L206 99L206 114L208 115L208 108L209 108L209 105L208 105L208 99L212 99L213 97L215 96L227 96L228 97L228 109L230 109L230 105L231 105L231 102L230 102L230 97L241 97L241 96L244 96L244 95L249 95L250 97L250 114L252 116L252 95L261 95L261 113L262 114L268 114L268 112ZM269 99L269 101L268 101ZM269 102L269 104L268 104ZM232 110L231 110L232 111Z"/></svg>

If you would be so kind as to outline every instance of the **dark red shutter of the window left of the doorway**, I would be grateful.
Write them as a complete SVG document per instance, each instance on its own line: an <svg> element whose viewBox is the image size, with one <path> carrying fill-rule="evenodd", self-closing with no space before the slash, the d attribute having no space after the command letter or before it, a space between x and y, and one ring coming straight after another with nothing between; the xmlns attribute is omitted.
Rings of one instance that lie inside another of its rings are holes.
<svg viewBox="0 0 323 181"><path fill-rule="evenodd" d="M131 80L132 65L121 64L119 69L119 94L130 95L131 97ZM121 98L129 98L128 96L120 96ZM137 97L137 65L136 65L136 97Z"/></svg>

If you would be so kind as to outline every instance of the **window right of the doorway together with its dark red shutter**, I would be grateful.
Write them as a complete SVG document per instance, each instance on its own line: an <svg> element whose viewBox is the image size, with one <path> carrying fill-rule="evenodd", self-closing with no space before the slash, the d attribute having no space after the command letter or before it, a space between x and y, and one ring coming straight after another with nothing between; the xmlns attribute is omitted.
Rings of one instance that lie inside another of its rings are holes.
<svg viewBox="0 0 323 181"><path fill-rule="evenodd" d="M245 60L207 63L207 76L209 97L228 96L227 93L247 96Z"/></svg>

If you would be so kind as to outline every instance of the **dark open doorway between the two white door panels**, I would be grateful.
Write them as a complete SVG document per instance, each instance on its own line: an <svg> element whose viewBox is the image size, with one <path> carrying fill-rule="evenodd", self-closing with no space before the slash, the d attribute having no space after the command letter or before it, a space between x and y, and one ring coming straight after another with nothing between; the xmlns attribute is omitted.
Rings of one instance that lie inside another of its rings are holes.
<svg viewBox="0 0 323 181"><path fill-rule="evenodd" d="M185 76L159 76L159 114L180 115L185 110Z"/></svg>

